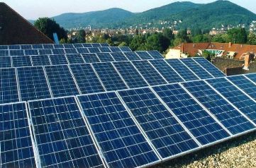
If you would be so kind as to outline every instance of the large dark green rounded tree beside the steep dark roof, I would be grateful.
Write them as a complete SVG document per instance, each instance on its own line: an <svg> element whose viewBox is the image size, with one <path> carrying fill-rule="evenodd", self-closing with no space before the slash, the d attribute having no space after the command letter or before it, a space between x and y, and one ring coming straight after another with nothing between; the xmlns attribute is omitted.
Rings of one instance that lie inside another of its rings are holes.
<svg viewBox="0 0 256 168"><path fill-rule="evenodd" d="M59 39L64 38L67 40L67 32L64 28L60 27L59 24L50 18L38 18L35 20L35 28L43 32L46 36L48 36L51 40L53 39L53 33L56 32Z"/></svg>

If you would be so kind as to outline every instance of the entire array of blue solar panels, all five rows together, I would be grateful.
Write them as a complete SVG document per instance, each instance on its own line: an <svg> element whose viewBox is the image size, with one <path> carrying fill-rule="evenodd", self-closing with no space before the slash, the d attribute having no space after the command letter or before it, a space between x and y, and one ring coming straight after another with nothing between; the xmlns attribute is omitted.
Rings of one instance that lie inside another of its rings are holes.
<svg viewBox="0 0 256 168"><path fill-rule="evenodd" d="M108 44L0 46L0 167L146 167L256 129L256 73Z"/></svg>

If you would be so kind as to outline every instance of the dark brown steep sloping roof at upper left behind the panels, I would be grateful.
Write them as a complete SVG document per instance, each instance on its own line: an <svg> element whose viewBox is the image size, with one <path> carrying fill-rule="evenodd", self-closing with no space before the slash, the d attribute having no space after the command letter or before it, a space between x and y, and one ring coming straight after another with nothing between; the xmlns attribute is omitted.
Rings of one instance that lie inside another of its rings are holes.
<svg viewBox="0 0 256 168"><path fill-rule="evenodd" d="M0 44L50 44L50 38L3 2L0 3Z"/></svg>

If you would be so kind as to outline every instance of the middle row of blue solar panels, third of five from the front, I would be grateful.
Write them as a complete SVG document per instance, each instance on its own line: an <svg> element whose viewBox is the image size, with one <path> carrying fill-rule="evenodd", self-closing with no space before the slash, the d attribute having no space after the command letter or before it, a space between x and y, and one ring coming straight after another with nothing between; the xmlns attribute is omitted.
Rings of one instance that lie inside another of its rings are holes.
<svg viewBox="0 0 256 168"><path fill-rule="evenodd" d="M84 64L110 61L135 61L148 59L163 59L163 56L157 51L98 54L58 54L39 56L0 56L0 68Z"/></svg>

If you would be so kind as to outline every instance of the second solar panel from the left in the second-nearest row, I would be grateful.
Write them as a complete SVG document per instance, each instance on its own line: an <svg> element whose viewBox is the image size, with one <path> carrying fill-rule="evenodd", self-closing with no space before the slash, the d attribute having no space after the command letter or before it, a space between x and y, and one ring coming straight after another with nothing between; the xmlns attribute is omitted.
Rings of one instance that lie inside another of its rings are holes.
<svg viewBox="0 0 256 168"><path fill-rule="evenodd" d="M22 101L51 97L43 66L17 68L17 74Z"/></svg>

